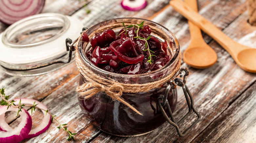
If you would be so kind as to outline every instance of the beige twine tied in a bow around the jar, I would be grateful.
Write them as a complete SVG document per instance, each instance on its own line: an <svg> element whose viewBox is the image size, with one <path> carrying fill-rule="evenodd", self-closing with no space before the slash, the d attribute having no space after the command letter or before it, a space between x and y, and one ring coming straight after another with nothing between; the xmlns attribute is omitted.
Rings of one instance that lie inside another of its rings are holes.
<svg viewBox="0 0 256 143"><path fill-rule="evenodd" d="M80 39L80 38L79 38ZM78 47L78 44L76 45ZM181 65L181 53L179 53L179 61L175 70L173 70L166 77L146 84L123 84L115 81L111 78L103 78L93 71L88 69L81 60L79 56L78 49L76 48L75 60L76 66L80 72L80 74L85 78L85 81L82 85L76 88L78 96L83 96L85 99L89 99L90 97L96 95L98 92L105 92L106 95L110 96L113 100L117 100L128 107L130 107L133 111L142 115L136 108L134 108L131 104L127 103L121 95L123 92L125 93L138 93L138 92L146 92L151 89L160 88L164 84L166 84L170 79L174 76L174 74L179 71Z"/></svg>

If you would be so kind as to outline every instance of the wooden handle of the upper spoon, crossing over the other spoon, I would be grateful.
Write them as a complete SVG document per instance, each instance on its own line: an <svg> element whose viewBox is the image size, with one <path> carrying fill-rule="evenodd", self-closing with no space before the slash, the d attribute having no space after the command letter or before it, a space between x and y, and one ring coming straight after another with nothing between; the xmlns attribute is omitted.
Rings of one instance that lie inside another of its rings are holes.
<svg viewBox="0 0 256 143"><path fill-rule="evenodd" d="M226 36L221 30L195 12L181 0L171 0L170 5L185 18L200 27L205 33L217 41L233 58L236 57L242 49L237 46L238 43ZM232 47L232 49L230 48Z"/></svg>

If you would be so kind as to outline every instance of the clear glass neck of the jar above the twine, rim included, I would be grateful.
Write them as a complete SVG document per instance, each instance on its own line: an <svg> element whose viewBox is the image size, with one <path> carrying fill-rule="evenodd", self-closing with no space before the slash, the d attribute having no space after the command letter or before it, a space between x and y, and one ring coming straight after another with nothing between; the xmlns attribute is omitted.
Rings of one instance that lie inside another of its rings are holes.
<svg viewBox="0 0 256 143"><path fill-rule="evenodd" d="M115 32L119 31L120 29L123 28L122 22L124 22L125 24L138 24L141 21L144 21L144 24L147 24L151 27L151 32L153 36L157 37L162 41L166 41L168 43L167 52L168 52L168 55L171 56L171 59L162 68L149 73L135 74L135 75L117 74L117 73L104 71L96 67L94 64L92 64L90 60L88 60L88 58L85 56L85 53L90 50L91 44L85 43L82 40L79 40L78 52L79 52L79 56L82 59L83 64L88 69L93 71L96 75L99 75L103 78L111 78L123 84L145 84L148 82L155 82L157 80L161 80L166 76L172 74L174 71L178 71L181 65L181 62L180 62L181 53L180 53L178 40L168 29L166 29L160 24L157 24L148 20L144 20L144 19L138 19L138 18L118 18L118 19L111 19L111 20L96 24L90 29L88 29L86 32L88 34L89 39L91 39L95 35L95 33L102 32L106 29L112 29Z"/></svg>

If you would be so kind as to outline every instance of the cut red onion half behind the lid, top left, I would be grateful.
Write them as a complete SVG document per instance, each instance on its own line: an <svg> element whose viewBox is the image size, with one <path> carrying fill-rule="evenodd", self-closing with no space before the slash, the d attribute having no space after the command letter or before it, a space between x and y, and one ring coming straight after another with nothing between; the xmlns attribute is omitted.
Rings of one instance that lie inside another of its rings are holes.
<svg viewBox="0 0 256 143"><path fill-rule="evenodd" d="M45 0L0 0L0 21L11 25L14 22L38 14Z"/></svg>

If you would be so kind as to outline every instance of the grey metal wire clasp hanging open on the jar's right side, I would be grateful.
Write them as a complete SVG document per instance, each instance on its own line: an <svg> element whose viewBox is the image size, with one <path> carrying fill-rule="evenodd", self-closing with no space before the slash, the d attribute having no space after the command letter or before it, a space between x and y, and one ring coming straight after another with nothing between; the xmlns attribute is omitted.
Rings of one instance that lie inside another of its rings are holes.
<svg viewBox="0 0 256 143"><path fill-rule="evenodd" d="M180 75L180 77L184 77L183 78L183 81L181 78L177 78L177 76ZM157 103L158 103L158 106L164 116L164 118L168 121L168 123L170 123L171 125L173 125L176 130L177 130L177 133L180 137L184 137L185 135L188 134L188 131L193 128L200 120L201 120L201 115L199 114L199 112L194 108L194 100L193 100L193 96L191 95L191 92L189 91L188 87L186 86L186 76L189 74L189 71L187 68L184 68L182 67L178 72L176 72L176 74L171 78L171 80L168 82L168 86L165 90L165 93L164 95L159 95L158 98L157 98ZM178 122L175 122L174 120L174 117L173 117L173 114L172 114L172 111L171 111L171 108L170 108L170 105L167 101L167 96L168 96L168 93L169 93L169 90L170 89L175 89L176 86L180 86L182 87L182 90L184 92L184 95L185 95L185 98L186 98L186 102L187 102L187 105L188 105L188 112L185 116L183 116ZM189 100L190 98L190 100ZM161 101L163 101L161 103ZM163 109L163 106L166 105L167 107L167 110L169 112L169 115L170 115L170 119L168 118L167 114L165 113L164 109ZM190 114L191 114L191 111L193 110L193 112L197 115L197 119L192 123L192 125L190 125L186 130L185 132L183 132L183 134L181 133L180 131L180 127L179 125L181 124L181 122L183 122Z"/></svg>

